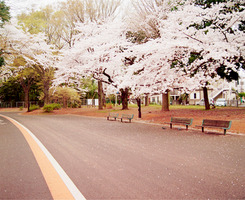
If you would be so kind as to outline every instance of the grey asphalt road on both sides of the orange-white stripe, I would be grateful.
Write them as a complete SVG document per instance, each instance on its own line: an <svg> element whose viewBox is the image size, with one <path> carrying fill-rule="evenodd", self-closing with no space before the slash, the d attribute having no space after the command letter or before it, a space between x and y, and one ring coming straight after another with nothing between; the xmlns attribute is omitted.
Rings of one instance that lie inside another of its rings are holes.
<svg viewBox="0 0 245 200"><path fill-rule="evenodd" d="M245 199L245 136L75 115L26 126L86 199ZM0 117L0 199L51 199L20 131Z"/></svg>

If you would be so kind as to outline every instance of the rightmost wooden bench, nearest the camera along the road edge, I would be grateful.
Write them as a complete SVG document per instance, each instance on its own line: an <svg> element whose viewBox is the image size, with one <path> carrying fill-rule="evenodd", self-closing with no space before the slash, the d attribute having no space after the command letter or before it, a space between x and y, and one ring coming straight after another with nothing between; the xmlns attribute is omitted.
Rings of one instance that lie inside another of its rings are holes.
<svg viewBox="0 0 245 200"><path fill-rule="evenodd" d="M231 128L231 121L204 119L202 121L202 125L201 126L196 125L196 127L202 127L202 132L204 132L204 127L206 127L206 128L221 128L221 129L224 129L224 135L225 135L226 130Z"/></svg>

